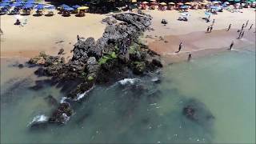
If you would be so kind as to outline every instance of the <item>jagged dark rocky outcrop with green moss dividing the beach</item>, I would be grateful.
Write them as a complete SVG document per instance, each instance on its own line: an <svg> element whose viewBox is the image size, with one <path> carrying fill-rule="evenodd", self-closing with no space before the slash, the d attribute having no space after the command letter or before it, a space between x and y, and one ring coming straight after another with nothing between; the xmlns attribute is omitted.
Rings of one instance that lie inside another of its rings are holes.
<svg viewBox="0 0 256 144"><path fill-rule="evenodd" d="M116 22L118 21L118 22ZM162 67L157 53L140 42L142 32L149 29L149 16L116 14L103 20L108 26L97 41L94 38L80 39L74 44L73 57L64 62L60 51L58 56L41 53L29 63L41 65L35 74L51 76L55 82L79 79L76 89L67 97L78 100L78 95L98 83L118 81L127 78L129 70L134 74L145 74ZM73 110L69 103L58 106L49 122L65 123Z"/></svg>

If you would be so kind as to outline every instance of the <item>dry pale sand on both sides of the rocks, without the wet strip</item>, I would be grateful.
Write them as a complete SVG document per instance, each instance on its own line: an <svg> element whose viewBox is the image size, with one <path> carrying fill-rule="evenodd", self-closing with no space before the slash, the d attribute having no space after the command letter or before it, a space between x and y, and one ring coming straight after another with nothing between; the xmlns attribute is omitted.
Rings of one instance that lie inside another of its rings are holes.
<svg viewBox="0 0 256 144"><path fill-rule="evenodd" d="M251 23L255 23L254 9L243 9L242 11L243 13L230 13L224 10L223 13L212 15L211 18L215 19L214 30L223 30L230 23L232 23L232 29L238 29L246 20L250 20L249 26ZM153 16L152 27L154 28L154 31L146 32L145 36L150 35L156 38L146 38L147 43L158 41L157 37L159 36L205 31L206 27L211 24L202 19L205 16L204 10L190 10L191 16L188 22L178 21L180 13L176 10L145 10L144 12ZM70 50L73 49L73 44L77 41L77 34L84 38L93 37L95 39L102 36L106 27L101 22L102 18L106 18L106 15L86 14L86 17L83 18L74 15L66 18L59 14L55 14L53 17L30 15L24 16L22 19L22 21L27 19L25 26L14 26L14 16L2 15L1 57L18 55L29 58L37 55L39 51L57 54L61 48L66 51L66 56L70 56ZM166 26L161 24L162 18L169 22ZM255 26L253 26L253 30L255 30Z"/></svg>

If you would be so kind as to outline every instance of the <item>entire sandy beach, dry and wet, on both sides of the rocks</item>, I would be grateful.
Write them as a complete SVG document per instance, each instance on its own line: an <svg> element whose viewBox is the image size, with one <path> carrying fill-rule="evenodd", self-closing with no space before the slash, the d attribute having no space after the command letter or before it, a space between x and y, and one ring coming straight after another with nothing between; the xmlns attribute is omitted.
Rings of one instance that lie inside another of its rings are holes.
<svg viewBox="0 0 256 144"><path fill-rule="evenodd" d="M204 10L190 10L188 22L177 20L180 15L177 10L144 10L144 12L153 16L151 27L154 29L144 34L145 42L149 44L150 49L169 58L172 62L186 59L190 51L194 53L193 56L220 51L220 49L212 49L230 46L232 41L235 42L234 47L255 43L255 26L250 31L246 30L244 38L236 39L238 36L236 30L242 26L242 23L249 20L246 28L248 29L251 23L255 22L253 9L243 9L243 13L230 13L224 10L222 13L212 15L211 18L215 19L215 23L214 30L210 34L205 33L211 22L206 23L202 19L205 17ZM84 18L71 15L66 18L55 13L53 17L23 16L22 21L27 19L25 26L14 26L14 16L2 15L1 57L30 58L40 51L57 54L58 50L63 48L68 58L71 55L70 50L77 41L77 34L84 38L98 39L106 27L101 22L103 18L106 18L104 14L86 14ZM161 24L162 18L168 21L166 26ZM226 27L230 23L232 23L232 30L226 32ZM160 37L163 40L160 40ZM179 42L183 42L185 48L181 54L174 54ZM199 53L201 49L204 49L204 52Z"/></svg>

